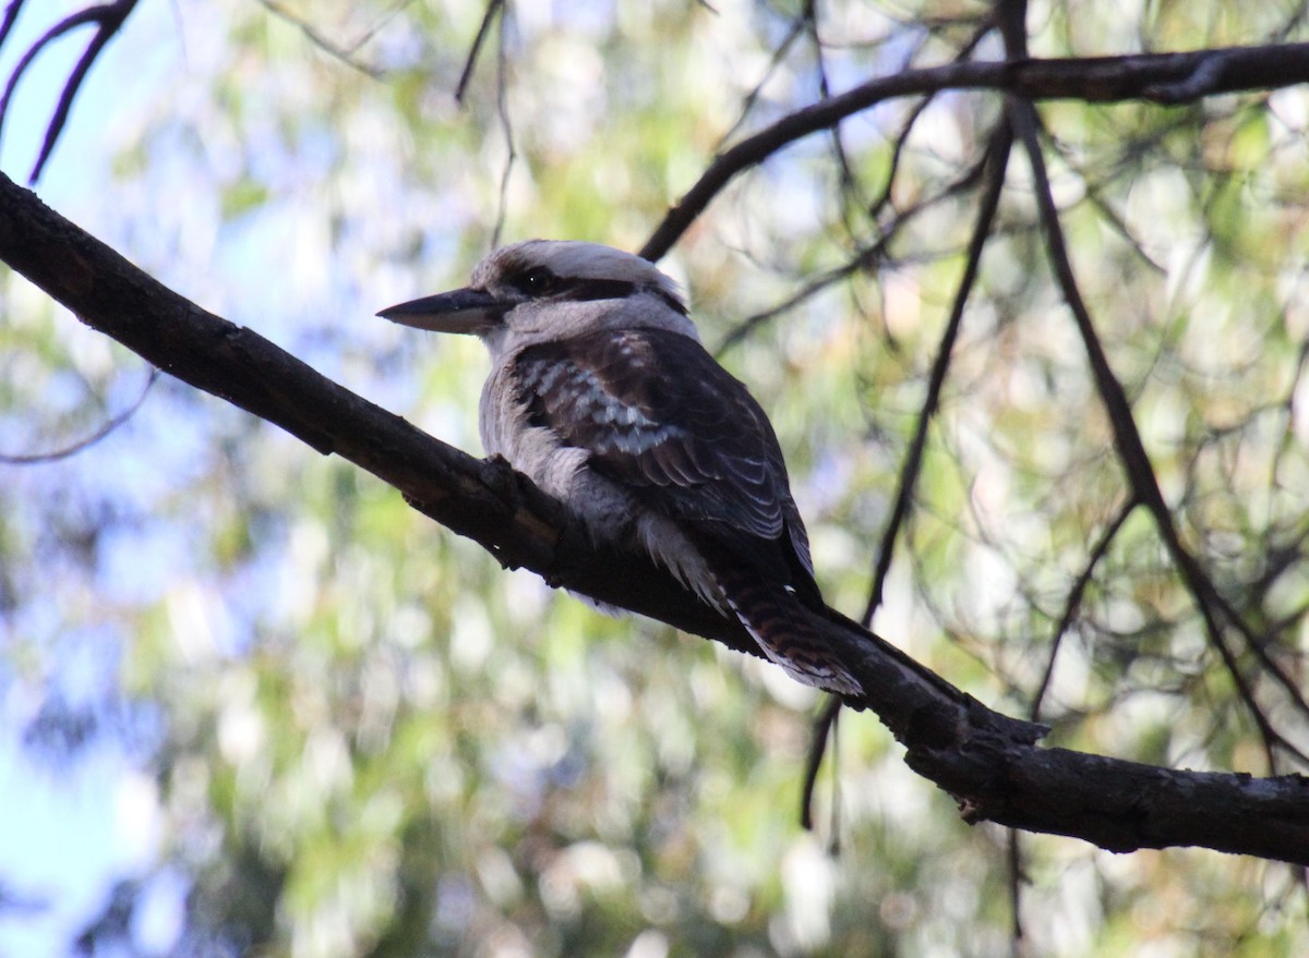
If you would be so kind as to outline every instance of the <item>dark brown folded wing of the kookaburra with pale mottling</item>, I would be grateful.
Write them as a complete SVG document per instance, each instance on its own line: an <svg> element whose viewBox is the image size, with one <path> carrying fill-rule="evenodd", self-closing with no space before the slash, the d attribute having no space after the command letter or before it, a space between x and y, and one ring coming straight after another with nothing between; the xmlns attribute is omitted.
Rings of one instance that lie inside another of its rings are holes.
<svg viewBox="0 0 1309 958"><path fill-rule="evenodd" d="M516 380L533 424L588 450L597 471L715 538L785 543L812 582L776 435L694 339L627 330L531 346Z"/></svg>

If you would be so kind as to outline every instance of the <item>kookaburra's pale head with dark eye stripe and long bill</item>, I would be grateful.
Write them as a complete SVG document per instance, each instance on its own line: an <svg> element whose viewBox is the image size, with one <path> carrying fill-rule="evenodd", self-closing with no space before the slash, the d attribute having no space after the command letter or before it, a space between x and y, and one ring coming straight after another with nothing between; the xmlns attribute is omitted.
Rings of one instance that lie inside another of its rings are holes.
<svg viewBox="0 0 1309 958"><path fill-rule="evenodd" d="M503 246L478 263L467 287L378 315L420 330L471 332L492 355L602 328L664 328L699 338L677 284L653 263L564 240Z"/></svg>

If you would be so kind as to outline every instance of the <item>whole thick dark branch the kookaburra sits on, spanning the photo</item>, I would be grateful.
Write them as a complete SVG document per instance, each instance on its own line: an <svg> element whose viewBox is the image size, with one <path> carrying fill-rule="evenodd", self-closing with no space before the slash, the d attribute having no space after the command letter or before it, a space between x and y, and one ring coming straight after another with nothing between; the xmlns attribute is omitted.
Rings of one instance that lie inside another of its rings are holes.
<svg viewBox="0 0 1309 958"><path fill-rule="evenodd" d="M250 330L206 313L4 177L0 260L177 378L367 469L505 565L747 648L734 623L648 561L597 554L560 505L504 465L433 440ZM861 681L902 669L898 658L853 639L842 654ZM1309 864L1309 780L1300 776L1170 771L1042 750L1031 743L1030 725L946 695L920 674L865 687L876 694L859 704L895 729L908 764L954 794L970 822L1069 835L1115 851L1204 845Z"/></svg>

